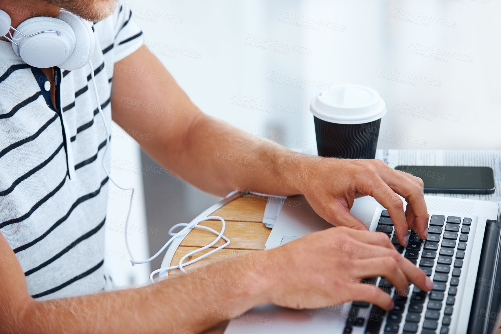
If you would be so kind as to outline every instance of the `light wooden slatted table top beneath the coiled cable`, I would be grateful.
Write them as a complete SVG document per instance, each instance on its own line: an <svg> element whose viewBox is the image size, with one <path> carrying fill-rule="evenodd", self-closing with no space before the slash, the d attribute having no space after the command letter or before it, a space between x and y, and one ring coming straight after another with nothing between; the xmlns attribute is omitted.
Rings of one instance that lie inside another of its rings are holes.
<svg viewBox="0 0 501 334"><path fill-rule="evenodd" d="M268 228L265 224L263 224L263 215L265 213L267 200L268 197L264 196L244 195L211 213L211 216L220 216L224 219L226 222L224 236L226 236L231 243L227 247L201 259L200 261L190 264L190 269L195 269L208 263L231 256L237 256L245 251L265 249L266 240L268 240L268 236L272 231L271 228ZM216 231L221 230L221 222L219 220L206 220L201 222L199 225L213 228ZM177 265L181 257L183 257L186 253L203 247L213 240L214 234L212 232L201 228L192 229L183 239L179 247L177 247L177 250L172 257L171 265ZM187 257L184 262L205 254L211 249L217 248L224 243L225 241L220 239L211 248ZM179 269L170 270L168 277L179 274L182 274ZM203 334L222 334L227 325L228 321L223 321L204 331Z"/></svg>

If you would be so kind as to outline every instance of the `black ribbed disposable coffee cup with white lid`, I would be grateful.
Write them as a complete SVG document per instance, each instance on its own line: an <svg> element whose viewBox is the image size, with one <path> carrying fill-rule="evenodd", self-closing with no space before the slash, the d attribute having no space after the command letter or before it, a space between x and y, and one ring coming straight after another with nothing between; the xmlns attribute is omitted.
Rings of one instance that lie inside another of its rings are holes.
<svg viewBox="0 0 501 334"><path fill-rule="evenodd" d="M318 155L374 159L386 105L372 88L343 84L317 94L310 111L315 121Z"/></svg>

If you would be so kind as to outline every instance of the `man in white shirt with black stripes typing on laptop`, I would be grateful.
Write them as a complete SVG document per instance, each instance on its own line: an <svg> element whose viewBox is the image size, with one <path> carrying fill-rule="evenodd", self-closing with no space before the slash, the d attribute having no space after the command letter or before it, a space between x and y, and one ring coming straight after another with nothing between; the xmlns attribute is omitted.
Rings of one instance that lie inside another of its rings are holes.
<svg viewBox="0 0 501 334"><path fill-rule="evenodd" d="M212 194L237 189L276 195L304 194L315 211L336 226L312 233L260 256L287 266L225 260L141 289L96 292L103 258L81 254L77 245L104 246L106 187L100 165L106 144L86 66L76 71L32 68L0 42L0 332L198 332L220 317L275 303L315 308L349 300L393 307L388 294L360 283L385 276L404 293L407 281L430 290L431 280L403 258L383 233L350 214L356 197L370 195L388 209L398 240L408 230L425 239L427 211L419 178L379 160L306 156L203 114L161 63L141 47L131 13L114 0L0 0L13 27L61 8L96 22L92 58L107 117L126 131L150 134L142 148L166 169ZM113 69L113 71L111 71ZM107 71L109 70L109 71ZM137 73L148 73L146 76ZM50 83L50 89L46 85ZM47 87L47 89L45 89ZM128 100L147 101L131 109ZM174 113L148 113L148 104ZM92 130L92 131L91 131ZM149 139L149 138L148 138ZM258 173L217 163L220 152L263 165ZM397 193L404 197L407 209ZM344 226L344 227L343 227ZM351 227L351 228L349 228ZM333 245L343 245L332 252ZM204 284L205 277L245 282L252 289Z"/></svg>

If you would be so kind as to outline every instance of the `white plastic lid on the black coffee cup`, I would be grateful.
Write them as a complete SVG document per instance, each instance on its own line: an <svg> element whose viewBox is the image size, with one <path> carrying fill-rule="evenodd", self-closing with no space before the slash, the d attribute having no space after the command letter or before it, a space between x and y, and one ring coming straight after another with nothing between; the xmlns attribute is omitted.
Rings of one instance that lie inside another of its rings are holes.
<svg viewBox="0 0 501 334"><path fill-rule="evenodd" d="M386 105L370 87L342 84L318 93L312 100L310 111L326 122L363 124L383 117Z"/></svg>

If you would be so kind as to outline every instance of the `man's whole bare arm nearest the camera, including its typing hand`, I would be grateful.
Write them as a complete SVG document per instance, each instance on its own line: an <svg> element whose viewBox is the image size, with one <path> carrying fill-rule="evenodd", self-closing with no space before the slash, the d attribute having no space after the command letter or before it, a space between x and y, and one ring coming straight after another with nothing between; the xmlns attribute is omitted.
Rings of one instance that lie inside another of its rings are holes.
<svg viewBox="0 0 501 334"><path fill-rule="evenodd" d="M402 295L408 293L407 280L425 291L433 286L386 234L347 227L187 269L187 275L143 288L37 301L30 297L23 270L0 233L0 332L199 332L264 303L319 308L364 300L391 309L392 298L361 283L364 277L384 276Z"/></svg>

